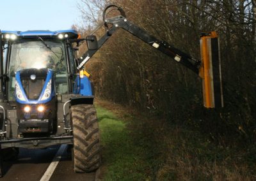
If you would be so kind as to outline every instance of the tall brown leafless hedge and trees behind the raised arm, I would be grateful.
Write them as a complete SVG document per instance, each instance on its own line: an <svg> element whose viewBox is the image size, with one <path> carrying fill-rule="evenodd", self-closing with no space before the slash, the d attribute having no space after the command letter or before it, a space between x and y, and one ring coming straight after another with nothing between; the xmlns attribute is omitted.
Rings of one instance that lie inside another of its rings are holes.
<svg viewBox="0 0 256 181"><path fill-rule="evenodd" d="M255 1L83 0L81 4L97 12L83 11L85 20L94 15L92 25L99 24L109 2L122 6L129 20L148 33L196 59L200 33L216 30L225 108L204 110L197 75L122 30L87 65L97 96L198 129L216 143L255 142Z"/></svg>

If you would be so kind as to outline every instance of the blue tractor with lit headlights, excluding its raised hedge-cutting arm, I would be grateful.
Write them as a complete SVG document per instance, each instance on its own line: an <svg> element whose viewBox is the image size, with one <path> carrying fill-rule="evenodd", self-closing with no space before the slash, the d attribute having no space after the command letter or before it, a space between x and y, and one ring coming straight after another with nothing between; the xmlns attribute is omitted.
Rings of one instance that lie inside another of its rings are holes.
<svg viewBox="0 0 256 181"><path fill-rule="evenodd" d="M1 31L1 150L65 143L74 145L74 171L99 168L93 90L77 69L78 37L74 30Z"/></svg>

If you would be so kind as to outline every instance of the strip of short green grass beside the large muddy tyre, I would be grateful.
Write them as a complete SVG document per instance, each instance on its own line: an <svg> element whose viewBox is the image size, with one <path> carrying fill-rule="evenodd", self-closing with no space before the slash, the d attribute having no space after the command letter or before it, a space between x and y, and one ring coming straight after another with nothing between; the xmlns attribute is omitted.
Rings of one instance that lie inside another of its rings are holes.
<svg viewBox="0 0 256 181"><path fill-rule="evenodd" d="M135 145L127 124L113 113L97 106L102 146L104 180L146 180L149 163L143 158L140 145Z"/></svg>

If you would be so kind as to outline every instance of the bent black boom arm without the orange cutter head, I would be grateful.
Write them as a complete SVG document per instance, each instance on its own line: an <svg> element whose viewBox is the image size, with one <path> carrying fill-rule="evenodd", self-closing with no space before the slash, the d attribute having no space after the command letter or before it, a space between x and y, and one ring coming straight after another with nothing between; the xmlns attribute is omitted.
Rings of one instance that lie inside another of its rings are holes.
<svg viewBox="0 0 256 181"><path fill-rule="evenodd" d="M108 29L108 24L112 25L109 29ZM108 40L108 38L113 33L115 33L116 30L118 30L119 28L122 28L125 31L128 31L134 36L140 38L140 40L143 40L148 45L156 48L157 50L163 52L169 57L172 57L175 61L191 69L196 74L199 73L200 61L196 61L190 55L178 50L177 48L172 47L171 45L169 45L164 41L157 40L157 38L148 34L146 31L138 27L138 25L133 24L122 15L118 17L106 19L105 27L107 31L106 31L106 34L104 34L104 36L102 36L98 41L99 47L96 50L88 50L88 52L86 52L81 57L82 59L84 59L84 61L82 61L81 64L79 64L77 69L81 69L83 65L90 59L90 57L92 57L92 55L95 54L95 52L97 52L97 50L99 50L100 47L102 47L102 45Z"/></svg>

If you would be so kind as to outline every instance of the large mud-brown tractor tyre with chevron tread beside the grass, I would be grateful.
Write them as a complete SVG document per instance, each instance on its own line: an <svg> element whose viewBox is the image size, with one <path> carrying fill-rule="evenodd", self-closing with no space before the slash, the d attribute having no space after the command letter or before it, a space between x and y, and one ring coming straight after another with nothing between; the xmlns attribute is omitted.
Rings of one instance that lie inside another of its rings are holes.
<svg viewBox="0 0 256 181"><path fill-rule="evenodd" d="M74 171L95 171L100 166L99 124L93 105L71 106L74 135Z"/></svg>

